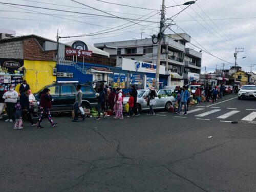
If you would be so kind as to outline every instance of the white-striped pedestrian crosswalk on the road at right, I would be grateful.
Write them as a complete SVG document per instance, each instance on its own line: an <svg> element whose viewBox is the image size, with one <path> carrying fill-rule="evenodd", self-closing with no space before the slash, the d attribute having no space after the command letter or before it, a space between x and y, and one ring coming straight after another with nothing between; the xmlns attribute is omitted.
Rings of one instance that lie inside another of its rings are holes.
<svg viewBox="0 0 256 192"><path fill-rule="evenodd" d="M223 120L223 122L229 122L224 120L228 118L230 119L232 118L232 120L256 121L255 111L256 110L253 110L253 109L247 110L247 111L245 109L237 110L236 108L225 108L225 109L196 108L188 111L187 114L189 114L189 116L194 116L196 117L196 119L200 119L200 120L209 120L209 118L217 118L217 119L220 119L221 121Z"/></svg>

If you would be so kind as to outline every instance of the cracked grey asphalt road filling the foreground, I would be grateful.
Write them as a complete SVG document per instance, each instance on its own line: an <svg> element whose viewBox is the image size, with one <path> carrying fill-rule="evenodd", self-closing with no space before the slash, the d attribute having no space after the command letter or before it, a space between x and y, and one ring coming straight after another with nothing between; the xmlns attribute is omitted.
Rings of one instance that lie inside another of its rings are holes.
<svg viewBox="0 0 256 192"><path fill-rule="evenodd" d="M234 97L186 116L0 121L0 191L256 191L256 101Z"/></svg>

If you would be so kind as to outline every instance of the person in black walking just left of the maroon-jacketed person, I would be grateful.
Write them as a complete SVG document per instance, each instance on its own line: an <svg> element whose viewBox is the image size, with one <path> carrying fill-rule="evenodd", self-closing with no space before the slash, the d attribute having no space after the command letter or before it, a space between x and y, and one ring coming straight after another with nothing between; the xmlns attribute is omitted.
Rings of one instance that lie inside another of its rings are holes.
<svg viewBox="0 0 256 192"><path fill-rule="evenodd" d="M28 121L31 123L32 126L35 126L37 123L35 123L31 117L31 109L30 109L28 92L29 92L29 89L26 88L24 92L20 94L19 104L20 106L22 106L24 116L27 117Z"/></svg>

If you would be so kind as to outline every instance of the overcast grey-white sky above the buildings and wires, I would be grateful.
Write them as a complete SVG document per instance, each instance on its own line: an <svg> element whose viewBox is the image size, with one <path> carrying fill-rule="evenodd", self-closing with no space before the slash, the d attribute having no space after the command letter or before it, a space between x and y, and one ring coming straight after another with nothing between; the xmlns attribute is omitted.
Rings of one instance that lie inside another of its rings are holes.
<svg viewBox="0 0 256 192"><path fill-rule="evenodd" d="M159 30L158 22L160 15L156 10L160 9L162 4L161 0L104 0L105 2L148 9L124 7L103 3L97 0L75 1L91 6L92 8L71 0L2 0L2 3L37 6L65 11L0 4L0 28L15 30L17 36L36 34L53 40L56 40L57 29L59 29L60 36L82 35L102 31L100 35L61 39L61 42L64 43L79 39L92 45L96 42L139 39L141 38L141 30L143 31L143 38L150 38L151 35L157 34ZM165 6L180 5L184 2L184 0L165 0ZM172 17L185 7L186 6L167 8L165 17ZM186 32L191 36L191 44L187 44L186 47L197 51L200 49L208 51L231 63L234 63L233 52L235 48L244 48L244 52L239 53L238 58L246 58L239 59L238 65L241 66L243 70L250 71L250 67L248 66L256 64L255 7L256 1L254 0L198 0L196 4L191 5L174 19L176 25L171 26L171 28L176 33ZM100 9L112 15L97 11L93 8ZM117 16L124 19L102 17L99 15ZM125 18L144 21L134 21L134 23L140 22L140 25L138 25L125 20ZM117 27L120 25L122 26ZM123 29L117 30L120 28ZM165 33L173 32L166 30ZM200 47L200 49L194 47L192 44ZM225 61L203 52L202 67L207 67L206 71L208 72L214 71L216 65L218 65L217 69L222 68L222 63L226 63L224 69L229 69L231 64ZM256 65L252 67L252 71L256 72Z"/></svg>

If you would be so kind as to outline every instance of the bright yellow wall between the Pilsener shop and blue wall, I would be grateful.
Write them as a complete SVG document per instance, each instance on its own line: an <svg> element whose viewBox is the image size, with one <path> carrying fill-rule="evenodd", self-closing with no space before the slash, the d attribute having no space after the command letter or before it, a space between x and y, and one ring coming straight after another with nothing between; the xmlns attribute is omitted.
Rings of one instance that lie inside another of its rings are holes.
<svg viewBox="0 0 256 192"><path fill-rule="evenodd" d="M53 76L55 66L55 61L24 60L24 79L27 80L32 93L56 81L56 76Z"/></svg>

